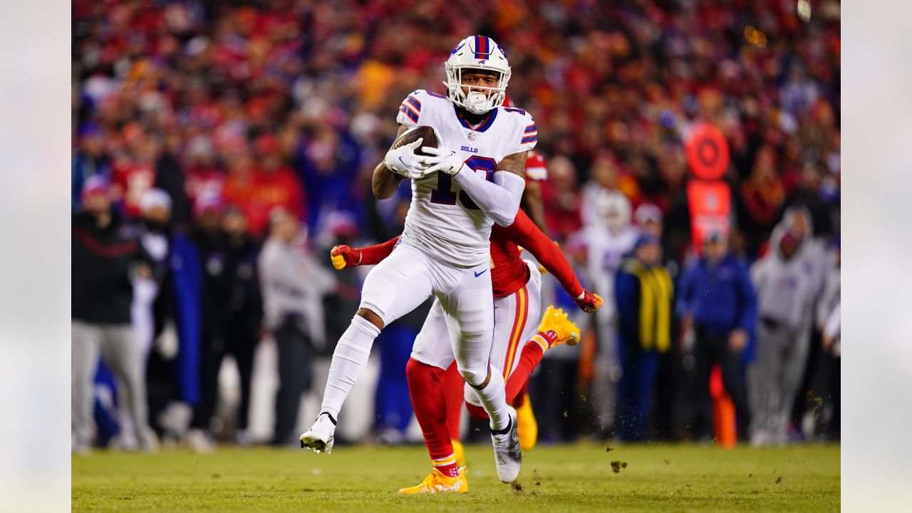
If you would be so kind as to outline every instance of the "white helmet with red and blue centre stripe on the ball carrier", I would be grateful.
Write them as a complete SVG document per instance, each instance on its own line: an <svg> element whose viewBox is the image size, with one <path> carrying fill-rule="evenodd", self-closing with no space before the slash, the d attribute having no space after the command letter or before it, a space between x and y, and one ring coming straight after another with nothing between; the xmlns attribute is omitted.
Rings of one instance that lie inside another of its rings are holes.
<svg viewBox="0 0 912 513"><path fill-rule="evenodd" d="M491 37L470 36L462 39L459 45L450 52L445 64L447 79L443 85L447 87L447 96L450 101L472 114L483 114L489 110L503 105L506 97L507 82L510 81L510 63L503 53L503 48ZM472 91L468 95L462 91L463 69L485 69L497 72L495 88L482 91Z"/></svg>

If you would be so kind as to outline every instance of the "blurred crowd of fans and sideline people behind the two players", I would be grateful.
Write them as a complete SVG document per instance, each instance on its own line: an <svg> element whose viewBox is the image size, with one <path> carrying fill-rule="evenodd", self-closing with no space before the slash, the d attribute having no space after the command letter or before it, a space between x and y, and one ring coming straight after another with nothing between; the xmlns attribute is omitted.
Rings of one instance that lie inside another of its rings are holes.
<svg viewBox="0 0 912 513"><path fill-rule="evenodd" d="M506 50L510 99L540 128L549 235L609 299L587 342L534 375L543 438L708 438L714 368L742 436L838 436L840 14L813 4L805 22L789 0L75 0L76 446L125 423L140 446L210 443L225 354L247 442L266 338L272 441L287 442L308 369L358 306L363 274L332 270L328 248L399 234L409 190L377 201L370 173L399 102L442 90L476 33ZM695 245L683 141L698 121L729 144L732 225ZM633 304L654 287L667 308ZM646 314L665 320L641 329ZM119 397L92 393L105 380ZM107 403L129 418L107 422ZM173 403L192 404L189 431ZM378 429L408 417L393 403Z"/></svg>

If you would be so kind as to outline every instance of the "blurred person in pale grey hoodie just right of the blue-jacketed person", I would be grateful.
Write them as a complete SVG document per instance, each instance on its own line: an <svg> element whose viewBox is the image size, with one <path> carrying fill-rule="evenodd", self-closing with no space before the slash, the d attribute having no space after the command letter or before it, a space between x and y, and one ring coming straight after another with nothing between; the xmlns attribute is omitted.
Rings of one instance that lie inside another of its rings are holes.
<svg viewBox="0 0 912 513"><path fill-rule="evenodd" d="M823 273L810 223L800 223L796 230L786 215L772 232L769 253L751 267L760 316L757 359L748 372L752 445L787 442L810 351Z"/></svg>

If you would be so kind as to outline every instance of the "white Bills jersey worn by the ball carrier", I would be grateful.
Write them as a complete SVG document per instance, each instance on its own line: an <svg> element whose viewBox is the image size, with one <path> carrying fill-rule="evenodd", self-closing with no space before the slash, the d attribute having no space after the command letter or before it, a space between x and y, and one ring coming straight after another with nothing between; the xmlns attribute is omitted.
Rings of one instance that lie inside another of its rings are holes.
<svg viewBox="0 0 912 513"><path fill-rule="evenodd" d="M535 120L525 110L498 107L472 126L450 99L424 89L402 101L396 120L409 128L437 129L440 148L456 152L488 181L503 157L532 150L538 141ZM402 240L445 264L474 267L490 259L492 223L451 175L431 173L411 182Z"/></svg>

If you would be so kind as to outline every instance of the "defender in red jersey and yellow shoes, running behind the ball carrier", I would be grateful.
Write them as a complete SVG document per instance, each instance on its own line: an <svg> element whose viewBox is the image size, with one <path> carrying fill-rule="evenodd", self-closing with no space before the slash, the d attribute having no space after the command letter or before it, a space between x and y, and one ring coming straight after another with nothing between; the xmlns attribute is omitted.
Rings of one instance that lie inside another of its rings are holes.
<svg viewBox="0 0 912 513"><path fill-rule="evenodd" d="M399 237L364 248L336 246L330 255L337 269L374 265L388 257L397 244ZM522 210L516 213L513 225L493 227L491 275L495 314L491 365L503 373L508 403L523 391L529 373L541 361L544 351L557 344L575 344L579 340L579 329L566 318L563 310L553 306L545 310L541 324L534 328L541 312L541 275L533 262L520 258L522 249L518 245L560 281L580 309L593 312L602 304L602 298L580 285L573 268L554 242ZM462 380L451 382L445 375L454 358L450 343L441 341L449 340L450 333L440 302L434 301L406 367L411 401L434 468L420 485L402 488L399 490L402 493L464 492L468 489L465 467L457 465L457 451L447 425L448 414L461 411L463 397ZM521 346L520 342L526 343ZM451 397L453 387L457 402L443 401L444 394ZM466 388L464 397L473 417L487 418L471 388Z"/></svg>

